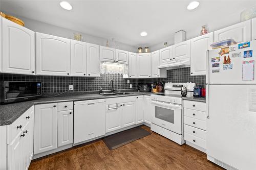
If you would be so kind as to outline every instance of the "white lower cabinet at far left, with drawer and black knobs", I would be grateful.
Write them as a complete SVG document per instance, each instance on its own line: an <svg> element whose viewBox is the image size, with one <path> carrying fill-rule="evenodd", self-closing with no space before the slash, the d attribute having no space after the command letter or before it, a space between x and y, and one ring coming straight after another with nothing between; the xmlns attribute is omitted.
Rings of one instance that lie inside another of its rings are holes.
<svg viewBox="0 0 256 170"><path fill-rule="evenodd" d="M16 126L20 124L21 128ZM7 132L12 127L18 129L14 138L7 134L10 143L7 145L7 169L24 170L29 168L33 156L33 131L34 124L34 107L28 109L12 125L7 126Z"/></svg>

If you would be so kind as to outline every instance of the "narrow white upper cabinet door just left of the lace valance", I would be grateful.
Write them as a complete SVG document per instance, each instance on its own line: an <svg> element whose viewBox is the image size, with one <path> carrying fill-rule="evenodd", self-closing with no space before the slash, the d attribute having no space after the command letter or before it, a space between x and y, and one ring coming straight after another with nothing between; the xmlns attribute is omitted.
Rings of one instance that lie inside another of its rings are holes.
<svg viewBox="0 0 256 170"><path fill-rule="evenodd" d="M99 77L99 45L87 43L87 76Z"/></svg>

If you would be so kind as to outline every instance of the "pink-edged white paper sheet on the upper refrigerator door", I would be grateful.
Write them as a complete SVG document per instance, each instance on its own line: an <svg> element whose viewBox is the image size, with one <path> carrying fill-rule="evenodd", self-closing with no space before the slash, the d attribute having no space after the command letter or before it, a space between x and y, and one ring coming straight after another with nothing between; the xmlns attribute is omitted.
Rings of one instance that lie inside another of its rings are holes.
<svg viewBox="0 0 256 170"><path fill-rule="evenodd" d="M254 80L254 61L243 61L242 80Z"/></svg>

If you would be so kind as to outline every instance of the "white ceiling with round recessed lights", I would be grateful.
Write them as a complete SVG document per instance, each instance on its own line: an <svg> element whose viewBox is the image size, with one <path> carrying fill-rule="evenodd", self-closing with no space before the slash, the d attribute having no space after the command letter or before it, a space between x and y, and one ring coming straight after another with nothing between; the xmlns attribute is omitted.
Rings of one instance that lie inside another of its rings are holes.
<svg viewBox="0 0 256 170"><path fill-rule="evenodd" d="M134 46L152 46L173 40L179 30L187 38L200 34L202 25L210 31L239 22L240 13L255 1L198 0L200 6L187 10L191 0L66 0L73 10L59 6L60 1L1 1L1 9L12 14L76 30L103 38L115 37ZM141 37L146 31L148 35Z"/></svg>

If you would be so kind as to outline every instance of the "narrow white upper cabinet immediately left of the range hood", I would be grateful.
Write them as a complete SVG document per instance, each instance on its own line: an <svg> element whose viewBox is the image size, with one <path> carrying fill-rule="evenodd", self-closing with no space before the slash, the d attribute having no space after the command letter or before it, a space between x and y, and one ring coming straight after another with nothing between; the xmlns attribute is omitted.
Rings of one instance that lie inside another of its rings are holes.
<svg viewBox="0 0 256 170"><path fill-rule="evenodd" d="M151 53L151 76L152 78L166 78L166 69L158 69L160 64L160 50Z"/></svg>

